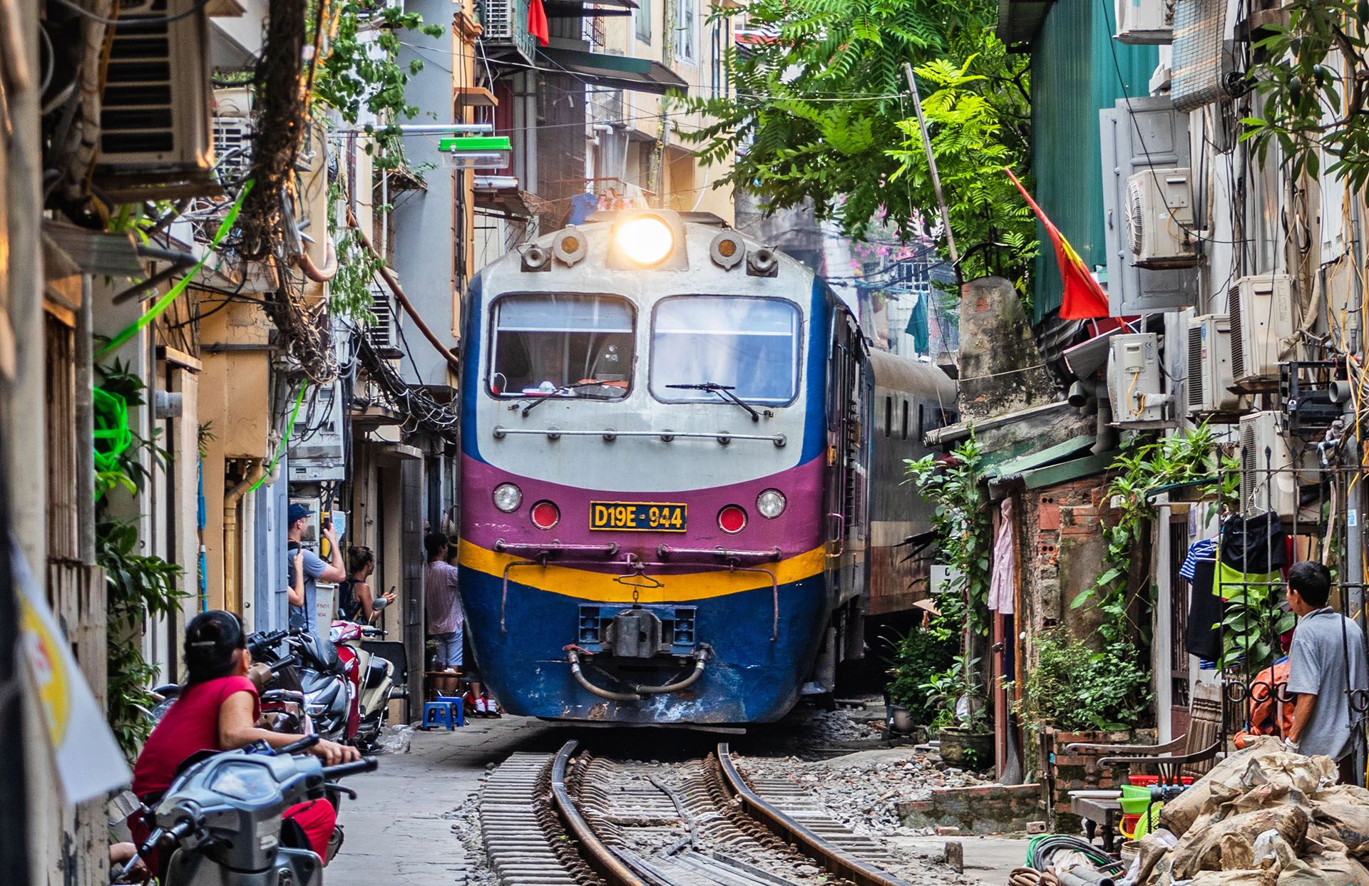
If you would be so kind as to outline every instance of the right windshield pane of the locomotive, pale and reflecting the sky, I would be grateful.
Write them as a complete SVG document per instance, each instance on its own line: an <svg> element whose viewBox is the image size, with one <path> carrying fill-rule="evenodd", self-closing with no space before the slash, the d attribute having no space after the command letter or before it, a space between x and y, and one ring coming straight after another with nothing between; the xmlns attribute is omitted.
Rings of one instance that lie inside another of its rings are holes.
<svg viewBox="0 0 1369 886"><path fill-rule="evenodd" d="M652 394L716 403L713 389L726 386L746 403L790 403L798 394L798 308L789 301L664 299L652 322Z"/></svg>

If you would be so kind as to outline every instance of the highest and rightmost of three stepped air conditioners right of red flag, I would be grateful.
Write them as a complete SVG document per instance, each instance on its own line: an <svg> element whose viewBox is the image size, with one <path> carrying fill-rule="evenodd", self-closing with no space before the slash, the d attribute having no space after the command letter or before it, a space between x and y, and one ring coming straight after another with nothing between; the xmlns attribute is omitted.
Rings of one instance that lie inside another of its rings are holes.
<svg viewBox="0 0 1369 886"><path fill-rule="evenodd" d="M1242 277L1228 294L1231 374L1238 388L1272 390L1279 385L1280 352L1294 333L1292 278Z"/></svg>

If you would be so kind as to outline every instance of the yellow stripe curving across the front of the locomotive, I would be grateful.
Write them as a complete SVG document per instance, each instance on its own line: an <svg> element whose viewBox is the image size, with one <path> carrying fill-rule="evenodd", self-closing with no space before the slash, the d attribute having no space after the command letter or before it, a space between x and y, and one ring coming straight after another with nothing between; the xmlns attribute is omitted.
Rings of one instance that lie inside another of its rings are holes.
<svg viewBox="0 0 1369 886"><path fill-rule="evenodd" d="M776 582L787 585L821 574L826 549L815 548L779 563L761 563L757 568L769 570L775 574ZM485 572L502 582L504 570L511 563L526 564L527 559L461 541L460 564L465 568ZM509 570L508 578L509 582L526 587L594 603L632 603L634 592L638 603L682 603L771 586L769 575L765 572L730 572L726 568L682 575L652 575L650 578L663 582L661 587L634 587L617 581L616 575L554 564L515 566Z"/></svg>

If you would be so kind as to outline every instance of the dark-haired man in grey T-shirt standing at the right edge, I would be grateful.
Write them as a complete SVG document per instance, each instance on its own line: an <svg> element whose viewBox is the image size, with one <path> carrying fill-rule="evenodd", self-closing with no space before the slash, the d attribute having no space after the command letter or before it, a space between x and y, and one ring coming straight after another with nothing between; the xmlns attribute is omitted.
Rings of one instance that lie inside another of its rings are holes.
<svg viewBox="0 0 1369 886"><path fill-rule="evenodd" d="M1340 765L1340 781L1358 785L1355 750L1364 712L1351 693L1369 689L1365 635L1338 613L1331 598L1331 571L1310 560L1288 567L1288 605L1298 615L1288 650L1288 694L1294 697L1290 750L1325 755Z"/></svg>

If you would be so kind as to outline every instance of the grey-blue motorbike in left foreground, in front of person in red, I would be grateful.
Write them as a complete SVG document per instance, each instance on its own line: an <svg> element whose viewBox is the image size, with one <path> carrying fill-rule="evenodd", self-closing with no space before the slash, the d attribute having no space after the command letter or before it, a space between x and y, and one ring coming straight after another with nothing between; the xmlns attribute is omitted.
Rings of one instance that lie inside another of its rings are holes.
<svg viewBox="0 0 1369 886"><path fill-rule="evenodd" d="M282 845L281 815L330 787L350 794L333 781L371 772L376 761L323 765L318 757L296 756L316 742L311 735L274 752L255 742L192 763L153 808L142 809L151 834L134 859L112 872L114 882L133 874L140 859L155 870L153 856L170 852L162 886L320 886L320 859Z"/></svg>

